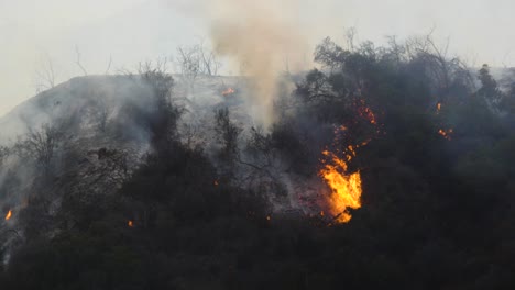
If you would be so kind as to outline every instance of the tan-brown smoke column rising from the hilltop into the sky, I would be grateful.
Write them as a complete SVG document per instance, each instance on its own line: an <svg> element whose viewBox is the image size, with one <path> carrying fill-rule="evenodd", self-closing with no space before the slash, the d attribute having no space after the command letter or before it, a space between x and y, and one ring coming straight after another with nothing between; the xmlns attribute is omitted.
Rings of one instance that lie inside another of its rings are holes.
<svg viewBox="0 0 515 290"><path fill-rule="evenodd" d="M294 3L216 0L209 10L212 44L252 79L251 114L265 127L274 121L278 74L305 64L307 42L295 25Z"/></svg>

